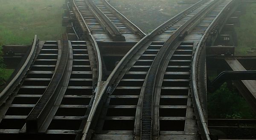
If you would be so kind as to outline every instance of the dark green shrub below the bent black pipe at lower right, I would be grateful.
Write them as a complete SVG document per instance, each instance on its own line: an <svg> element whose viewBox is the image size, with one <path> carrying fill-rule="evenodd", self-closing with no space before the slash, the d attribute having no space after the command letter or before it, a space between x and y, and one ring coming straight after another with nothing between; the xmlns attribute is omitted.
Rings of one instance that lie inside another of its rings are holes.
<svg viewBox="0 0 256 140"><path fill-rule="evenodd" d="M209 118L256 118L256 114L238 91L224 83L214 93L208 93Z"/></svg>

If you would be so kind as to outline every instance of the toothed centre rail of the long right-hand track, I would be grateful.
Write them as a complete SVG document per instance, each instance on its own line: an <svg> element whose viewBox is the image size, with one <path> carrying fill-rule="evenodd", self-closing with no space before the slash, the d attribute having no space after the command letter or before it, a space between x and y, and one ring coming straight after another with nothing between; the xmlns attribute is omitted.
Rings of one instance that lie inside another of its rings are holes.
<svg viewBox="0 0 256 140"><path fill-rule="evenodd" d="M152 62L151 68L148 71L148 76L145 79L145 90L143 91L143 104L142 104L142 112L141 112L141 140L149 140L149 137L151 139L151 134L148 134L148 129L152 129L152 98L154 94L154 87L156 82L157 73L159 71L160 65L163 62L163 59L166 58L169 54L169 49L172 48L172 46L175 46L175 44L178 42L178 37L181 32L186 31L187 28L191 23L193 23L195 20L198 20L198 17L201 15L201 13L204 13L207 10L211 10L211 6L215 6L215 3L217 0L213 1L203 9L201 9L197 14L195 14L191 19L183 23L173 34L170 36L170 38L164 43L163 47L159 50L157 53L157 56L155 57L154 61ZM167 61L165 59L165 61ZM144 101L145 100L145 101ZM151 104L148 104L150 102ZM145 106L144 106L145 104ZM143 119L145 118L145 120ZM151 119L149 119L151 118ZM151 120L149 122L149 120ZM143 123L144 122L144 123ZM150 126L150 127L149 127ZM150 132L151 133L151 132Z"/></svg>

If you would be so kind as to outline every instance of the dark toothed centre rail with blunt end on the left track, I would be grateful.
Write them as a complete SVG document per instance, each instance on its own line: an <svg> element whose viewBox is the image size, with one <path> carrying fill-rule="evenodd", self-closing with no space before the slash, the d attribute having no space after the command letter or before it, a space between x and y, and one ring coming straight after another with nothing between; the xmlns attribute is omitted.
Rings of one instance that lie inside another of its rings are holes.
<svg viewBox="0 0 256 140"><path fill-rule="evenodd" d="M55 99L59 94L59 86L61 86L62 80L64 78L64 73L67 68L69 47L67 35L61 36L61 56L59 59L58 67L55 70L52 79L47 86L44 94L41 96L35 107L29 113L26 118L26 131L39 131L41 126L44 124L45 118L47 118L51 108L54 104Z"/></svg>

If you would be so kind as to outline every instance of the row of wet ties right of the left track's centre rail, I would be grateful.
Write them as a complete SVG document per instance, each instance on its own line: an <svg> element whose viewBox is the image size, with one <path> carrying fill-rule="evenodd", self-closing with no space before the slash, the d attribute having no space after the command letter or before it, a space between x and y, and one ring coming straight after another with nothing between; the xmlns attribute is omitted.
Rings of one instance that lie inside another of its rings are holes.
<svg viewBox="0 0 256 140"><path fill-rule="evenodd" d="M71 41L72 56L67 80L55 102L47 132L77 134L93 101L93 72L85 41ZM63 125L65 124L65 125Z"/></svg>

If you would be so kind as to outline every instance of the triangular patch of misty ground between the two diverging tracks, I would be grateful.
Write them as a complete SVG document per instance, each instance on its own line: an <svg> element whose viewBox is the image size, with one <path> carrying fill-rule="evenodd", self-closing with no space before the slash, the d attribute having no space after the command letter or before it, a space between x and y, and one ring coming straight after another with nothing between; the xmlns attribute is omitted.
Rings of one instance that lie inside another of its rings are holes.
<svg viewBox="0 0 256 140"><path fill-rule="evenodd" d="M178 4L179 1L181 0L108 0L113 7L145 33L151 32L191 6Z"/></svg>

